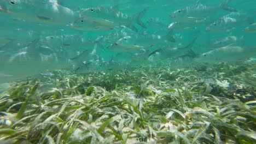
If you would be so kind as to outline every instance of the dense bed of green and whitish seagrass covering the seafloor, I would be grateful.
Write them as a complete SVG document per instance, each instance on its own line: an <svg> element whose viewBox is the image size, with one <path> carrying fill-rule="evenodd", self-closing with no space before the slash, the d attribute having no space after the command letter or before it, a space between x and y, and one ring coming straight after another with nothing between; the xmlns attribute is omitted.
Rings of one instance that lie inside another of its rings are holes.
<svg viewBox="0 0 256 144"><path fill-rule="evenodd" d="M52 71L0 94L0 143L256 143L256 64Z"/></svg>

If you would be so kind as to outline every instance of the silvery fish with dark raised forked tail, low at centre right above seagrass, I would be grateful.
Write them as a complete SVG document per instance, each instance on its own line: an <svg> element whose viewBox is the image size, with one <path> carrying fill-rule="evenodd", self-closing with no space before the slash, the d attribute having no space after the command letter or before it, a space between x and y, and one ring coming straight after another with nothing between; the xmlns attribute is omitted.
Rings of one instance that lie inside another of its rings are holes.
<svg viewBox="0 0 256 144"><path fill-rule="evenodd" d="M191 50L191 47L195 43L197 37L194 38L187 46L184 48L178 47L163 47L161 49L154 50L148 56L148 61L163 61L170 58L176 58L183 55L192 55L195 53Z"/></svg>

